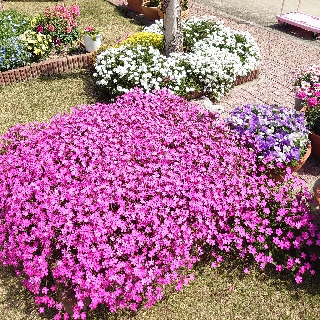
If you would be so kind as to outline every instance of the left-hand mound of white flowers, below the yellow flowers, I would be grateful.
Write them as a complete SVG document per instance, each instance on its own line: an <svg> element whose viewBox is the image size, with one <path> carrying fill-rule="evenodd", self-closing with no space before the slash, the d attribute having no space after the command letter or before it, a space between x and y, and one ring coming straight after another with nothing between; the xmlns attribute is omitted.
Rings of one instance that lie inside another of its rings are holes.
<svg viewBox="0 0 320 320"><path fill-rule="evenodd" d="M187 77L185 68L178 65L180 58L166 58L152 46L111 47L97 56L93 76L100 79L96 83L103 85L111 95L129 92L136 86L146 92L162 87L178 92ZM184 85L183 90L191 92L194 88Z"/></svg>

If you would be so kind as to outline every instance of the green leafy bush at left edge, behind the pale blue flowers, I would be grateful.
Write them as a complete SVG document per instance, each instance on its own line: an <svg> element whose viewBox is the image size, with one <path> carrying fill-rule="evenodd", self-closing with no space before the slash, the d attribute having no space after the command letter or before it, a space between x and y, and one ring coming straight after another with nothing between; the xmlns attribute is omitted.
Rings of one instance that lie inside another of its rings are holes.
<svg viewBox="0 0 320 320"><path fill-rule="evenodd" d="M2 39L14 38L30 28L30 16L16 10L0 11L0 47Z"/></svg>

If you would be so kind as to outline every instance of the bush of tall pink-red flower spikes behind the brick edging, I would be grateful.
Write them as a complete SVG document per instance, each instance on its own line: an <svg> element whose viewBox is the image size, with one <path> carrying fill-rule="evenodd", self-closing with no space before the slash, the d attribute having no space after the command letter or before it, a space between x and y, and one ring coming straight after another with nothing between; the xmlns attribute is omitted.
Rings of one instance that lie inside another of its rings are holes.
<svg viewBox="0 0 320 320"><path fill-rule="evenodd" d="M52 37L56 45L72 43L80 37L77 18L80 16L78 5L67 8L65 4L47 7L36 26L36 31Z"/></svg>

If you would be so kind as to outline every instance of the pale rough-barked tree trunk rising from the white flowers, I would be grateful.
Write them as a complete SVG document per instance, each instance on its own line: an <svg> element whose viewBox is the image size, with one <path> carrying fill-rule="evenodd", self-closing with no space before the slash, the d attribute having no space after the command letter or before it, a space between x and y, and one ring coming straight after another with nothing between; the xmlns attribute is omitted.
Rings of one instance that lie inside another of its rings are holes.
<svg viewBox="0 0 320 320"><path fill-rule="evenodd" d="M182 0L163 0L164 54L183 54Z"/></svg>

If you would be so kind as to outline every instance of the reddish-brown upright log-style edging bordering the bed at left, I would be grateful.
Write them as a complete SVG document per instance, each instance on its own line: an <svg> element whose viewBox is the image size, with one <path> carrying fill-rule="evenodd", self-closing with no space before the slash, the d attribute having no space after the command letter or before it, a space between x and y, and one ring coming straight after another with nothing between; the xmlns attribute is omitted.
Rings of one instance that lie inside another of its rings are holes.
<svg viewBox="0 0 320 320"><path fill-rule="evenodd" d="M42 61L5 72L0 72L0 86L26 82L39 77L90 67L91 53L71 55L55 60Z"/></svg>

